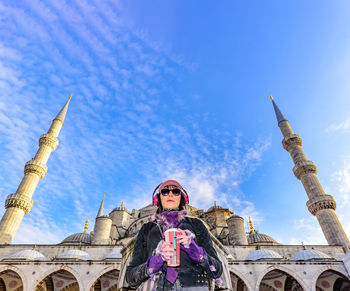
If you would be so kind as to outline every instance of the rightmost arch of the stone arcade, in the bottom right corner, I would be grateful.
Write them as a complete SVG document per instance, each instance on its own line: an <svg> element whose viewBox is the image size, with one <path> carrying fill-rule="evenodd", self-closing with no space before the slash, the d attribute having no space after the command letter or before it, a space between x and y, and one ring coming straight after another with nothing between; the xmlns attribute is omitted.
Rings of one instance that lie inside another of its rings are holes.
<svg viewBox="0 0 350 291"><path fill-rule="evenodd" d="M350 280L349 278L331 268L320 273L316 280L317 291L349 291Z"/></svg>

